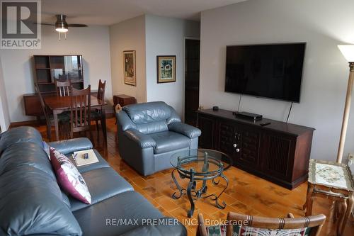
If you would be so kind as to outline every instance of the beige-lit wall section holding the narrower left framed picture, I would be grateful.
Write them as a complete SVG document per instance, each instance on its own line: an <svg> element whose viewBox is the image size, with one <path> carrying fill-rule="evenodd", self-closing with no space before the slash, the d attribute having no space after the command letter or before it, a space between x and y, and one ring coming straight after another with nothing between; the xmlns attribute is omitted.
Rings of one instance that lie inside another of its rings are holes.
<svg viewBox="0 0 354 236"><path fill-rule="evenodd" d="M122 56L124 50L135 50L137 86L124 83ZM134 96L137 102L147 101L144 16L110 26L110 63L113 94Z"/></svg>

